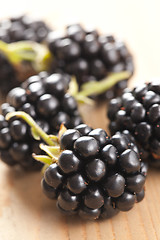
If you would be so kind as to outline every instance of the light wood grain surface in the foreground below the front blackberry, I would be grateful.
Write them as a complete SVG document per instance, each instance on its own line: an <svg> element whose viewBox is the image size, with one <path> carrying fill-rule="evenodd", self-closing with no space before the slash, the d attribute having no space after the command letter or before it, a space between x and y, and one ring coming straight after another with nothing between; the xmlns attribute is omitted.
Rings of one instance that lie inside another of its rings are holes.
<svg viewBox="0 0 160 240"><path fill-rule="evenodd" d="M146 240L160 239L160 174L150 170L146 197L110 220L64 217L41 193L39 173L13 171L0 164L0 239Z"/></svg>

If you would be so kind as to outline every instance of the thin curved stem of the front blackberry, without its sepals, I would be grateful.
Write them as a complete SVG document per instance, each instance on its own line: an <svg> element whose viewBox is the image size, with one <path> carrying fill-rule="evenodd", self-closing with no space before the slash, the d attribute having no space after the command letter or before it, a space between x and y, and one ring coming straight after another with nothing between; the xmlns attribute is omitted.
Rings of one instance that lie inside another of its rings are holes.
<svg viewBox="0 0 160 240"><path fill-rule="evenodd" d="M37 134L50 146L55 146L55 143L50 139L49 135L47 135L38 125L37 123L33 120L33 118L30 117L29 114L22 112L22 111L17 111L17 112L11 112L6 115L6 120L9 120L12 117L18 117L22 118L26 123L28 123L29 126L35 129Z"/></svg>

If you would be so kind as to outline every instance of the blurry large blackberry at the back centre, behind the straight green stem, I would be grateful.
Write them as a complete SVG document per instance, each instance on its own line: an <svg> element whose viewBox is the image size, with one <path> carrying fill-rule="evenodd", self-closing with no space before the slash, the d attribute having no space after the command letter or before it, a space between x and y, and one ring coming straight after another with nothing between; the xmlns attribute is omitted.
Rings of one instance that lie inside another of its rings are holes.
<svg viewBox="0 0 160 240"><path fill-rule="evenodd" d="M47 41L54 56L54 67L75 75L79 86L92 80L100 81L110 73L128 71L131 76L134 72L133 58L124 42L84 29L80 24L67 26L63 36L51 32ZM100 97L110 99L119 95L128 79L122 80Z"/></svg>

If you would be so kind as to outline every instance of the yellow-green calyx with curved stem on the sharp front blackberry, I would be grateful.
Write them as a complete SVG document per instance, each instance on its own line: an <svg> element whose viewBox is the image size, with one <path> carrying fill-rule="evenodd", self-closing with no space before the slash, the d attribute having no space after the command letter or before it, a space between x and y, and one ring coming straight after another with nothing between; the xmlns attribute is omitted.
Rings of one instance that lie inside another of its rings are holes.
<svg viewBox="0 0 160 240"><path fill-rule="evenodd" d="M36 155L33 153L32 156L35 160L40 161L47 166L58 161L58 158L63 151L60 148L60 138L66 131L64 125L62 125L60 128L59 136L48 135L38 126L38 124L29 114L22 111L11 112L6 115L6 120L11 119L12 117L23 119L31 127L31 133L33 138L35 138L36 140L42 139L47 144L45 145L41 143L39 145L40 149L42 149L47 155Z"/></svg>

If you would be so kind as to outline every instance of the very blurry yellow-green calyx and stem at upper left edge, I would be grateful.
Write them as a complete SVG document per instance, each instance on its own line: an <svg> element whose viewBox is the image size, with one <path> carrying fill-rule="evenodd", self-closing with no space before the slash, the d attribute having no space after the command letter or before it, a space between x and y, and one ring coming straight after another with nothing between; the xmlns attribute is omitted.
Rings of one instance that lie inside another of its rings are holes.
<svg viewBox="0 0 160 240"><path fill-rule="evenodd" d="M45 45L33 41L5 43L0 40L0 52L13 66L19 66L27 61L35 72L49 70L52 61L49 49Z"/></svg>

